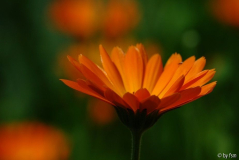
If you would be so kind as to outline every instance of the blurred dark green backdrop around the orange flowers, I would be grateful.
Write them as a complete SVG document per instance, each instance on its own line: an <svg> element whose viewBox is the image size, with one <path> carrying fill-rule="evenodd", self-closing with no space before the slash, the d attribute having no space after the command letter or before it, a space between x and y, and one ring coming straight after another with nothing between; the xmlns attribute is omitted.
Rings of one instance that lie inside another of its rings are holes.
<svg viewBox="0 0 239 160"><path fill-rule="evenodd" d="M152 40L163 61L175 51L183 59L205 56L216 68L214 91L162 116L142 139L142 160L218 159L239 154L239 29L218 22L207 0L138 1L142 19L133 31ZM9 0L0 5L0 123L40 121L65 132L70 160L130 159L130 132L117 119L106 126L89 121L87 99L63 85L54 72L71 37L52 31L49 0ZM132 44L129 44L132 45ZM117 44L116 44L117 46ZM69 64L70 65L70 64Z"/></svg>

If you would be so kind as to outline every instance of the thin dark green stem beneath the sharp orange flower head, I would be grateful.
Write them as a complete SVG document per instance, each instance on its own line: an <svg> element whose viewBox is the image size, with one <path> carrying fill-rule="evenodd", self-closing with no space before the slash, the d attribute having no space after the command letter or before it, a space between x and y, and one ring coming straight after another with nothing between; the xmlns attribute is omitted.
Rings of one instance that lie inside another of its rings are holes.
<svg viewBox="0 0 239 160"><path fill-rule="evenodd" d="M131 135L132 135L131 160L139 160L142 132L131 131Z"/></svg>

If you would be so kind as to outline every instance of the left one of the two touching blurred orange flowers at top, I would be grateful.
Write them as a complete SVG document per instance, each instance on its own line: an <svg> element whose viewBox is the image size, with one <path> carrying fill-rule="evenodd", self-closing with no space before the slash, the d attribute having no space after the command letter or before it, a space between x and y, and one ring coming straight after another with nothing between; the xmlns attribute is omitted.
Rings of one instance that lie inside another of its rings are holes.
<svg viewBox="0 0 239 160"><path fill-rule="evenodd" d="M49 9L52 20L62 32L75 37L89 38L98 29L98 1L55 0Z"/></svg>

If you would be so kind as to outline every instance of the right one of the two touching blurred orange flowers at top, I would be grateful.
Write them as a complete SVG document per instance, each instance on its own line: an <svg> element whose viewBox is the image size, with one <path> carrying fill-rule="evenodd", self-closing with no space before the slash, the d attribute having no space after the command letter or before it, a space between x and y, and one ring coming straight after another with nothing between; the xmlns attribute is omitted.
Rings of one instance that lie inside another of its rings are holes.
<svg viewBox="0 0 239 160"><path fill-rule="evenodd" d="M136 1L109 0L103 17L103 32L109 38L121 37L136 27L139 19Z"/></svg>

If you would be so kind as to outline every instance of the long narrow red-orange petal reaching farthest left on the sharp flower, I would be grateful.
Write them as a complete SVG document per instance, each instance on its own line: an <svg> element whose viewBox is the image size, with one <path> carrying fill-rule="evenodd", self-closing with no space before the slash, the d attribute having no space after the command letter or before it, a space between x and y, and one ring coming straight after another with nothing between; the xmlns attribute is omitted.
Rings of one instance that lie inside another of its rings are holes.
<svg viewBox="0 0 239 160"><path fill-rule="evenodd" d="M77 83L77 82L73 82L73 81L69 81L69 80L65 80L65 79L60 79L63 83L65 83L68 87L73 88L77 91L83 92L85 94L91 95L95 98L98 98L100 100L103 100L109 104L112 104L112 102L108 101L107 99L105 99L104 97L102 97L100 94L98 94L97 92L93 91L91 88L89 88L87 86L87 84L84 83L84 81L82 80L82 83Z"/></svg>

